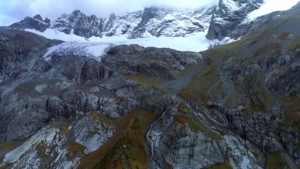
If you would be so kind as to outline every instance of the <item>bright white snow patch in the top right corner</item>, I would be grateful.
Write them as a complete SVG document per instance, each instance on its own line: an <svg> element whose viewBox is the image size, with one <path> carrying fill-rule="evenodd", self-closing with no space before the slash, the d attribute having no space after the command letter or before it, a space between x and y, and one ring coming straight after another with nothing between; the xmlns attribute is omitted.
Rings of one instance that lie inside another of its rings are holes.
<svg viewBox="0 0 300 169"><path fill-rule="evenodd" d="M293 7L299 0L264 0L263 5L251 12L248 15L248 19L253 20L259 16L280 10L288 10Z"/></svg>

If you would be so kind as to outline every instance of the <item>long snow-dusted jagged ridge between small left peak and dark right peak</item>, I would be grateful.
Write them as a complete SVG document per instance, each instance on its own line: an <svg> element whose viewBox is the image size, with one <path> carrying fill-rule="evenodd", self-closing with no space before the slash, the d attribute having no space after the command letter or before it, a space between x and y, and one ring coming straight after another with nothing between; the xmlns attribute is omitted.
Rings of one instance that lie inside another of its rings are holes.
<svg viewBox="0 0 300 169"><path fill-rule="evenodd" d="M146 7L144 10L107 18L86 16L79 10L72 14L63 14L51 24L51 28L66 34L90 38L92 36L121 36L129 39L150 36L182 37L208 28L213 7L172 11L158 7ZM74 30L74 32L72 32Z"/></svg>

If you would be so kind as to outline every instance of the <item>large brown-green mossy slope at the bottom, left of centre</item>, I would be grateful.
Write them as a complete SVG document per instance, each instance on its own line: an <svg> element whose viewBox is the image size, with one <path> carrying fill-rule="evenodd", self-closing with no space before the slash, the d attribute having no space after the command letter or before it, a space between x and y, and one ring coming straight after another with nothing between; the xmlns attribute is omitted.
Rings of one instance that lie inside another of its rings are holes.
<svg viewBox="0 0 300 169"><path fill-rule="evenodd" d="M147 168L144 136L147 127L156 116L154 112L136 110L125 117L113 120L116 132L98 150L84 156L79 168L91 166L96 169Z"/></svg>

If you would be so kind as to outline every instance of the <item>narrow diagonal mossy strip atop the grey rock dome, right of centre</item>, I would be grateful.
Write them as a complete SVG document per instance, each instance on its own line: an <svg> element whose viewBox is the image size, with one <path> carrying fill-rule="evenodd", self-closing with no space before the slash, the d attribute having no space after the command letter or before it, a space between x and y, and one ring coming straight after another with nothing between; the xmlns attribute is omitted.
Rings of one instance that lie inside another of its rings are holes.
<svg viewBox="0 0 300 169"><path fill-rule="evenodd" d="M218 133L212 131L210 128L206 127L199 118L193 113L193 111L185 103L180 103L178 105L178 115L174 116L174 120L185 127L190 128L194 132L202 132L209 136L213 140L221 140L222 137Z"/></svg>

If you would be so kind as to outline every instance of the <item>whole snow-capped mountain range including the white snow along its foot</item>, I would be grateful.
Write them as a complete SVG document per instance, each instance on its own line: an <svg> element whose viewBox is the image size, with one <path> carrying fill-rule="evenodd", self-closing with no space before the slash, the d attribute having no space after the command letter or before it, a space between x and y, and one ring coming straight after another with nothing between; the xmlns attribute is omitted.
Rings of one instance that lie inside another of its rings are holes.
<svg viewBox="0 0 300 169"><path fill-rule="evenodd" d="M276 2L272 0L219 0L218 4L209 7L181 11L146 7L143 10L122 15L112 13L106 18L99 18L96 15L87 16L79 10L74 10L70 14L62 14L51 23L49 19L42 20L41 16L37 15L26 17L10 27L66 42L96 40L97 42L128 44L136 42L131 40L142 38L145 41L138 41L140 45L200 51L207 49L211 43L207 41L229 42L228 39L236 40L243 37L249 33L254 19L263 15L261 13L265 13L266 8L268 12L283 9L278 8L280 3L282 2L279 0ZM292 4L289 7L291 6ZM168 45L174 44L174 41L182 41L182 37L188 37L188 40L198 39L195 45L199 46L198 43L203 43L201 46L205 47L190 49L188 46L191 44L186 47ZM161 46L157 43L161 40L167 40L168 43ZM153 41L155 43L149 43ZM172 42L169 43L169 41Z"/></svg>

